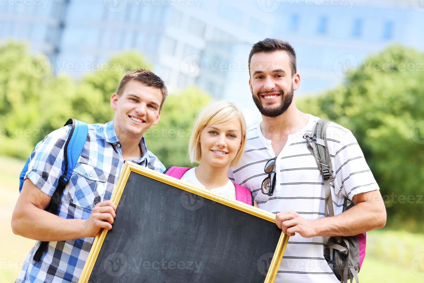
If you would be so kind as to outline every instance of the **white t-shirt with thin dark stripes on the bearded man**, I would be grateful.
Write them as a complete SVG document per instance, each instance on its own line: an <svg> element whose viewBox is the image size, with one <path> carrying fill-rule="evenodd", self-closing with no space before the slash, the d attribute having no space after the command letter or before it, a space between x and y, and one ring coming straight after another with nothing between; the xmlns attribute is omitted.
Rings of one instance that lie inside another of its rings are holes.
<svg viewBox="0 0 424 283"><path fill-rule="evenodd" d="M290 134L276 159L276 188L273 196L261 192L264 167L275 157L271 140L260 130L260 123L248 129L247 143L240 164L230 168L229 178L249 188L259 208L278 213L294 210L305 219L324 217L324 182L315 157L307 149L305 132L312 132L318 117L309 115L307 125ZM328 150L332 162L331 183L335 215L343 209L344 197L378 190L357 140L346 128L330 123L327 128ZM232 171L232 172L231 172ZM231 174L232 173L232 174ZM339 282L324 259L328 237L290 237L275 282Z"/></svg>

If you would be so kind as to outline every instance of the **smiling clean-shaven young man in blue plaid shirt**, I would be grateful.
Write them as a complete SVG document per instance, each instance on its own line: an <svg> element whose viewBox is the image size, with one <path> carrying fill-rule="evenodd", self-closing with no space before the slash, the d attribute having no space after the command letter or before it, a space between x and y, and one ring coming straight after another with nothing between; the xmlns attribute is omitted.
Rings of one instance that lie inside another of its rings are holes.
<svg viewBox="0 0 424 283"><path fill-rule="evenodd" d="M109 199L125 160L165 171L148 151L145 131L159 121L165 83L148 70L126 73L111 97L114 120L89 124L84 149L65 187L57 215L45 211L61 176L65 126L50 133L31 154L28 172L12 216L15 234L37 240L16 282L78 282L101 228L112 229L116 206ZM33 255L49 242L39 261Z"/></svg>

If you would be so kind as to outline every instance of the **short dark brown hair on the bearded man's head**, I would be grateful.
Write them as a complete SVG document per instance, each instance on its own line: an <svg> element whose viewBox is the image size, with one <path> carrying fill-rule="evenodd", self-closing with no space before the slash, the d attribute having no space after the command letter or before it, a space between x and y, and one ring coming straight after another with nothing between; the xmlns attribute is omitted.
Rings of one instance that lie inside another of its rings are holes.
<svg viewBox="0 0 424 283"><path fill-rule="evenodd" d="M291 72L292 76L296 74L296 52L293 47L287 42L275 38L265 38L264 40L258 41L252 46L249 54L249 74L250 74L250 61L253 54L265 52L271 53L275 51L286 51L290 56Z"/></svg>

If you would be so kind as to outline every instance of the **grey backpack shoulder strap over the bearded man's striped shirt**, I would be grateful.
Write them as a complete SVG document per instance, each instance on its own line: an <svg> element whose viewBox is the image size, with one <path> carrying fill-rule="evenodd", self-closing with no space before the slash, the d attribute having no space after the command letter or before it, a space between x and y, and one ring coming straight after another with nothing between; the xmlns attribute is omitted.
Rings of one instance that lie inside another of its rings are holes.
<svg viewBox="0 0 424 283"><path fill-rule="evenodd" d="M325 192L325 216L334 216L333 199L331 197L330 182L333 181L331 174L331 159L327 150L326 130L330 123L329 120L320 119L312 128L311 134L304 134L307 141L307 147L318 165L324 179Z"/></svg>

